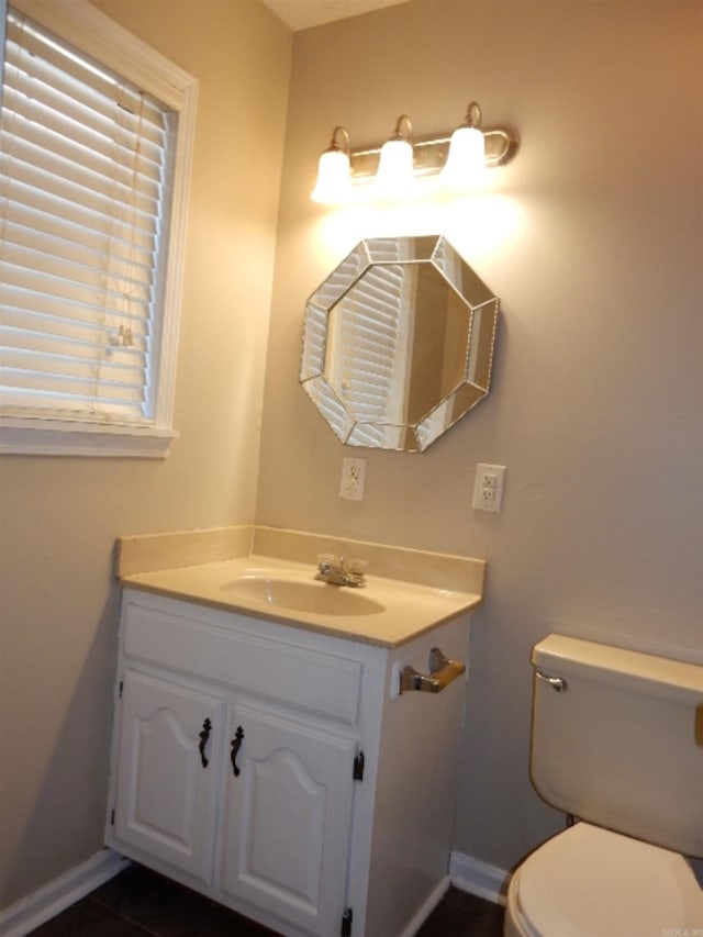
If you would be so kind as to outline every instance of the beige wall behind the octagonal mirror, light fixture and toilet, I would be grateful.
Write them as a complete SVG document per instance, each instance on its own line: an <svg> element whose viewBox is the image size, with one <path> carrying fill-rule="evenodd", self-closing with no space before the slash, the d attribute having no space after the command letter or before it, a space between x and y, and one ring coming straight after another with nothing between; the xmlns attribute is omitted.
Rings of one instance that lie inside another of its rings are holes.
<svg viewBox="0 0 703 937"><path fill-rule="evenodd" d="M698 0L415 0L295 36L257 520L488 559L456 846L501 868L561 822L528 782L532 644L703 659L702 63ZM522 134L486 197L308 199L335 124L431 134L473 98ZM410 232L502 298L493 389L423 455L346 448L295 387L304 301L358 238ZM345 455L361 503L337 498ZM471 511L477 461L507 466L498 516Z"/></svg>

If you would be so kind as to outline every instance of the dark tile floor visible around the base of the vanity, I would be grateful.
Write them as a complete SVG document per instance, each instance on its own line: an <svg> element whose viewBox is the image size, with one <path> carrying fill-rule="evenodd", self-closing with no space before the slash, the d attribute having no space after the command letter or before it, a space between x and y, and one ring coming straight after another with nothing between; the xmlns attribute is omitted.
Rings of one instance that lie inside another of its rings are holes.
<svg viewBox="0 0 703 937"><path fill-rule="evenodd" d="M500 937L502 928L502 907L453 888L417 937ZM272 937L274 932L140 866L125 869L32 932L32 937L145 935Z"/></svg>

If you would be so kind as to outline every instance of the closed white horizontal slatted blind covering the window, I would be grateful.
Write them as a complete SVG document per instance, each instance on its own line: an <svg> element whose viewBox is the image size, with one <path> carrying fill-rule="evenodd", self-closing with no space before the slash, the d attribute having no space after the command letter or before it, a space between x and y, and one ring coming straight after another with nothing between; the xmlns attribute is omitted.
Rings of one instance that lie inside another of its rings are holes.
<svg viewBox="0 0 703 937"><path fill-rule="evenodd" d="M148 425L176 115L10 9L0 408Z"/></svg>

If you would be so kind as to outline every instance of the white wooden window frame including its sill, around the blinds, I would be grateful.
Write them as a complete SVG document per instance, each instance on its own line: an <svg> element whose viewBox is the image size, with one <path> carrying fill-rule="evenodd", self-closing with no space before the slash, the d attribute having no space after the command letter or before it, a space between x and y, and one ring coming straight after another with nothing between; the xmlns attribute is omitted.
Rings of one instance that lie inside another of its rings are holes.
<svg viewBox="0 0 703 937"><path fill-rule="evenodd" d="M171 439L182 292L188 188L198 81L86 0L11 0L12 5L179 114L169 241L153 417L144 424L7 415L0 411L0 454L164 458ZM0 0L4 29L4 0ZM4 58L4 43L2 43ZM0 86L1 87L1 86Z"/></svg>

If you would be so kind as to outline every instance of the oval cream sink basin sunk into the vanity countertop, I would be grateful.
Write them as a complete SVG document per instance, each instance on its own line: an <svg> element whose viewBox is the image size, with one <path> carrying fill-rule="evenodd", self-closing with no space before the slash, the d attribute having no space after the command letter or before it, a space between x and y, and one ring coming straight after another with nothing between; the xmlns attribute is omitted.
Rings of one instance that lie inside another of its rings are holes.
<svg viewBox="0 0 703 937"><path fill-rule="evenodd" d="M223 585L233 599L241 595L270 609L310 612L314 615L376 615L384 612L380 602L356 589L330 585L326 582L281 579L249 573Z"/></svg>

